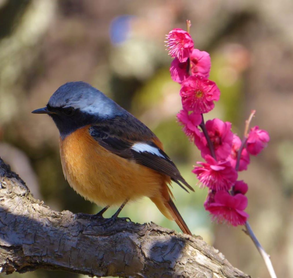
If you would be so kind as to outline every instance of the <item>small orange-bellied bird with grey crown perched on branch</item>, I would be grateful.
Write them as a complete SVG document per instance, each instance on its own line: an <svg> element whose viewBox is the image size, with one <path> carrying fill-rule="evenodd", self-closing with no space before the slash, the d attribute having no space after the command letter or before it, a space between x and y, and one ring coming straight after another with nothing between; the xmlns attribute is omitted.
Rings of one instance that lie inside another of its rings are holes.
<svg viewBox="0 0 293 278"><path fill-rule="evenodd" d="M32 111L48 114L60 133L62 169L69 185L81 196L105 206L149 197L183 233L192 235L172 201L168 185L174 181L193 188L163 151L151 130L90 84L76 81L60 86L46 107Z"/></svg>

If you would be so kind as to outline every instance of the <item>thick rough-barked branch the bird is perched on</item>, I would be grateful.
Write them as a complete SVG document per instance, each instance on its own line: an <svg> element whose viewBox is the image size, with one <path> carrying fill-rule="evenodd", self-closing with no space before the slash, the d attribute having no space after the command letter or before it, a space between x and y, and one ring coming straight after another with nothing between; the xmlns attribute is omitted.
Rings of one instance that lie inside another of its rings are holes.
<svg viewBox="0 0 293 278"><path fill-rule="evenodd" d="M38 268L98 277L250 277L200 237L55 212L0 158L0 273Z"/></svg>

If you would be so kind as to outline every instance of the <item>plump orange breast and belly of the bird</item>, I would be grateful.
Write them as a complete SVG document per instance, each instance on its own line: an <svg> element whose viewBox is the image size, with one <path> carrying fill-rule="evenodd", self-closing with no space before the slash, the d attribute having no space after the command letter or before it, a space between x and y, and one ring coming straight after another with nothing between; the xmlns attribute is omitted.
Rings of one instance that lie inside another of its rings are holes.
<svg viewBox="0 0 293 278"><path fill-rule="evenodd" d="M166 186L165 175L101 147L88 133L88 126L60 139L60 156L70 186L100 206L158 197Z"/></svg>

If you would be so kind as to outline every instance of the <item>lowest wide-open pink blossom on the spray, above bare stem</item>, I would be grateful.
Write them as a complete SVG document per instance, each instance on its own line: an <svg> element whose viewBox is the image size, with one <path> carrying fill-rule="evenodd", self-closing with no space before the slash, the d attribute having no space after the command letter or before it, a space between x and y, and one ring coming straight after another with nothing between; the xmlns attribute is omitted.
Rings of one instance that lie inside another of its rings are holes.
<svg viewBox="0 0 293 278"><path fill-rule="evenodd" d="M221 190L214 195L214 202L207 210L212 214L212 220L227 221L233 226L244 225L249 215L244 212L247 207L247 197L242 194L231 196L229 192Z"/></svg>

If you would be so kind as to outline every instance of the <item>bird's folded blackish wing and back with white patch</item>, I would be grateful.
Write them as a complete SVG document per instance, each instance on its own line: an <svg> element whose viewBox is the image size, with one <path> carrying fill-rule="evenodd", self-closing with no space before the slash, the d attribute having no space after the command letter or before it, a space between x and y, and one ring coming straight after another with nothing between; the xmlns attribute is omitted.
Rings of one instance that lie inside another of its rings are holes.
<svg viewBox="0 0 293 278"><path fill-rule="evenodd" d="M181 183L194 191L173 161L153 142L154 139L158 140L154 133L131 114L94 124L89 128L89 133L108 151L134 159L141 165L170 176L184 190L186 188Z"/></svg>

